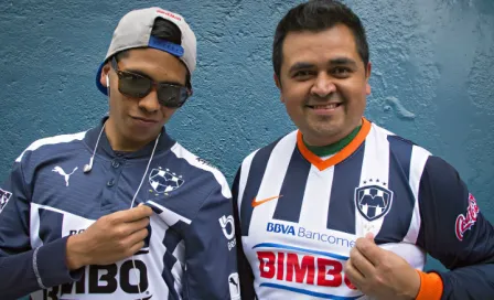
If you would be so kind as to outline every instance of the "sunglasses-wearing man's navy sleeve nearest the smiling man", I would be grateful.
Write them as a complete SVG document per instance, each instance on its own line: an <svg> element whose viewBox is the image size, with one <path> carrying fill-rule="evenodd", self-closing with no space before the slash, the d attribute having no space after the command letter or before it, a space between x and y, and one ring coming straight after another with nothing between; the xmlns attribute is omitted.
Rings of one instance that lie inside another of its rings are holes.
<svg viewBox="0 0 494 300"><path fill-rule="evenodd" d="M239 300L232 194L226 181L204 201L184 240L184 299Z"/></svg>

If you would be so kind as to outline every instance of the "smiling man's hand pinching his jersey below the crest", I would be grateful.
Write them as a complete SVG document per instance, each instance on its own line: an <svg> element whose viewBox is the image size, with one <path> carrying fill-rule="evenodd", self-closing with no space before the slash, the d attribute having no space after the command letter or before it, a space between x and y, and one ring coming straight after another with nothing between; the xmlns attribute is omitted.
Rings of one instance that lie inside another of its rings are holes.
<svg viewBox="0 0 494 300"><path fill-rule="evenodd" d="M400 256L379 248L372 234L356 240L344 271L358 290L375 299L415 299L420 290L418 272Z"/></svg>

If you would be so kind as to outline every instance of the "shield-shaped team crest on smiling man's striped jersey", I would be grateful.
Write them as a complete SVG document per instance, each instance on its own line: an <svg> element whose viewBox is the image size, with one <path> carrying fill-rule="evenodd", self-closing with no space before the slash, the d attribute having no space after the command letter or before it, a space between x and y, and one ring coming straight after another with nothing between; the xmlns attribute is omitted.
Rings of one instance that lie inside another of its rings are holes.
<svg viewBox="0 0 494 300"><path fill-rule="evenodd" d="M391 207L393 191L379 185L355 189L355 206L367 221L384 217Z"/></svg>

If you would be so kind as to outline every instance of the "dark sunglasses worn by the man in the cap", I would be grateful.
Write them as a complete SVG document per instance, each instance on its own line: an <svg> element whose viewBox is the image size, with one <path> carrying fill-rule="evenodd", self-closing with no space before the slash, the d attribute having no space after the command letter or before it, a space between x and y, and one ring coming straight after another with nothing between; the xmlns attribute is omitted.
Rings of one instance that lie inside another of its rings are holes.
<svg viewBox="0 0 494 300"><path fill-rule="evenodd" d="M151 93L152 87L157 88L158 101L160 105L178 108L181 107L189 97L192 89L178 84L157 83L151 78L132 72L118 69L117 60L111 58L111 67L118 76L118 90L132 98L143 98Z"/></svg>

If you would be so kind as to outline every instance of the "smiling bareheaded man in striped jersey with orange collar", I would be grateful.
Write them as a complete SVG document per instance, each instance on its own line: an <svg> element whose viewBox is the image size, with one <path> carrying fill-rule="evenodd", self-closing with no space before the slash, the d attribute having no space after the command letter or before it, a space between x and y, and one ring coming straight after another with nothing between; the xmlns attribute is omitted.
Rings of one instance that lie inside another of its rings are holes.
<svg viewBox="0 0 494 300"><path fill-rule="evenodd" d="M337 1L278 24L275 79L298 130L234 181L243 299L494 299L493 226L451 165L363 118L368 60ZM423 272L426 254L450 271Z"/></svg>

